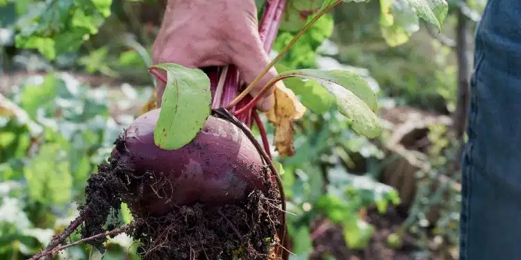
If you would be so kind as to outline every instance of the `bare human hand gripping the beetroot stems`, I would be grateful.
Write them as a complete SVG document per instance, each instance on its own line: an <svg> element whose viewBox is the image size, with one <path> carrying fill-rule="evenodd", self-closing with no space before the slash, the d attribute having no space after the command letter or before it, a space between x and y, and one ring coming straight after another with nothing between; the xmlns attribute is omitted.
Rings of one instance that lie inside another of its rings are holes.
<svg viewBox="0 0 521 260"><path fill-rule="evenodd" d="M189 68L234 64L251 83L270 63L258 35L254 0L168 0L163 24L152 46L155 64L172 62ZM276 70L251 90L257 96ZM158 84L158 106L165 84ZM274 105L273 88L258 102L263 112Z"/></svg>

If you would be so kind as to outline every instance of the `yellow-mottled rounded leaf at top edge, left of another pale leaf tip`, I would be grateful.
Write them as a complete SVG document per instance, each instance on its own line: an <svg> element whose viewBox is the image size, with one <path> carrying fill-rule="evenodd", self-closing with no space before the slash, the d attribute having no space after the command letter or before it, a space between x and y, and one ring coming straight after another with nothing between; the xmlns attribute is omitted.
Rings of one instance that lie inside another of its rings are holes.
<svg viewBox="0 0 521 260"><path fill-rule="evenodd" d="M380 28L389 46L398 46L420 30L420 19L406 0L380 0Z"/></svg>

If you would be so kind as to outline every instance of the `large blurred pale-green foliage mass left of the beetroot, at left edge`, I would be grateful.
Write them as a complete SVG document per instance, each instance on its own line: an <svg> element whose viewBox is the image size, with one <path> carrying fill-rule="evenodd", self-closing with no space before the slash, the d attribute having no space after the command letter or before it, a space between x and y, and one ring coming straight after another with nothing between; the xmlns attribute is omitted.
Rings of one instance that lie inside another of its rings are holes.
<svg viewBox="0 0 521 260"><path fill-rule="evenodd" d="M83 199L122 125L109 115L108 89L89 89L69 74L24 78L8 98L15 111L0 113L0 259L27 259L77 216L73 201ZM108 259L135 252L120 237L108 244ZM63 257L89 259L89 251L70 248Z"/></svg>

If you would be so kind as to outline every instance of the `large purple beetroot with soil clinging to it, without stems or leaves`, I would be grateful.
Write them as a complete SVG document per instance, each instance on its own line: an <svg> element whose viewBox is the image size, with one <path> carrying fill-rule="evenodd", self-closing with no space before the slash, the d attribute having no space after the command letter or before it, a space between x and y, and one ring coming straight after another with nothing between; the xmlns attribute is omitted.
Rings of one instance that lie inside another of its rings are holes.
<svg viewBox="0 0 521 260"><path fill-rule="evenodd" d="M126 202L134 221L125 232L142 259L280 259L283 190L249 128L213 110L189 144L163 150L154 144L159 111L138 117L89 178L82 237L114 229L107 220ZM105 241L86 243L103 251Z"/></svg>

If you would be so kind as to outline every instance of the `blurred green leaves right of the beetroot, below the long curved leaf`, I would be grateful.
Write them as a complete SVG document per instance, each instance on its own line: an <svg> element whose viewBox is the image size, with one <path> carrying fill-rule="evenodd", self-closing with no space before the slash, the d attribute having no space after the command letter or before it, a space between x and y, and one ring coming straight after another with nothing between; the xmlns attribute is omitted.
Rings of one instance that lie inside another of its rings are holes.
<svg viewBox="0 0 521 260"><path fill-rule="evenodd" d="M281 164L276 163L286 189L288 228L298 249L295 259L307 259L312 248L304 235L310 232L309 223L322 214L345 227L347 246L361 248L374 227L358 212L367 207L385 212L399 198L396 191L371 177L350 173L351 156L361 153L371 160L381 158L383 153L366 137L348 130L349 120L336 107L304 117L297 126L297 154L277 158Z"/></svg>

